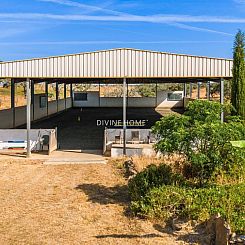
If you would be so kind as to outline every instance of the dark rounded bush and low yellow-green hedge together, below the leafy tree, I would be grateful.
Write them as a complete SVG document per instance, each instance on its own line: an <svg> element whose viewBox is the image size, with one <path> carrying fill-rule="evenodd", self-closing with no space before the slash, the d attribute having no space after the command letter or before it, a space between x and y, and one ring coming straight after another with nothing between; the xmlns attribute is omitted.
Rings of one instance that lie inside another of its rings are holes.
<svg viewBox="0 0 245 245"><path fill-rule="evenodd" d="M245 232L245 184L195 186L168 165L151 165L129 182L131 209L140 216L205 221L220 213L237 233Z"/></svg>

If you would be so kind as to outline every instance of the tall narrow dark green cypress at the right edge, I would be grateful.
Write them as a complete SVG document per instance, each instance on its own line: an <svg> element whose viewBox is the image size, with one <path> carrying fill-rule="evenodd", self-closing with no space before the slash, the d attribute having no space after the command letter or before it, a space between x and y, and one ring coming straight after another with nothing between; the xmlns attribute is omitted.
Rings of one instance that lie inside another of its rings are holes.
<svg viewBox="0 0 245 245"><path fill-rule="evenodd" d="M241 30L235 37L233 53L233 81L231 103L237 115L245 119L245 34Z"/></svg>

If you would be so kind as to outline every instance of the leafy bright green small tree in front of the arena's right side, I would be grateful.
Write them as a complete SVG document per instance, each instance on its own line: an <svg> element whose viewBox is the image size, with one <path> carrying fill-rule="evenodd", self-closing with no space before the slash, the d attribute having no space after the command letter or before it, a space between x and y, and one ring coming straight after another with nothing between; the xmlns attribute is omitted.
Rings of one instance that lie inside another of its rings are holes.
<svg viewBox="0 0 245 245"><path fill-rule="evenodd" d="M189 177L200 185L236 164L245 166L245 150L230 143L245 139L244 122L230 119L221 123L222 109L219 103L196 100L184 115L165 116L152 128L157 136L156 151L182 154Z"/></svg>

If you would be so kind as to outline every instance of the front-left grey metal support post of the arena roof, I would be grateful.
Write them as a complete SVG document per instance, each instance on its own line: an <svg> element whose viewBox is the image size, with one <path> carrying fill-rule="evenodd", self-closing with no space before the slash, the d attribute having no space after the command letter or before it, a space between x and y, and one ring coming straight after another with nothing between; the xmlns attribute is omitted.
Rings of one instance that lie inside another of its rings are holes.
<svg viewBox="0 0 245 245"><path fill-rule="evenodd" d="M30 79L26 80L26 157L31 157L31 142L30 142L30 133L31 133L31 82Z"/></svg>

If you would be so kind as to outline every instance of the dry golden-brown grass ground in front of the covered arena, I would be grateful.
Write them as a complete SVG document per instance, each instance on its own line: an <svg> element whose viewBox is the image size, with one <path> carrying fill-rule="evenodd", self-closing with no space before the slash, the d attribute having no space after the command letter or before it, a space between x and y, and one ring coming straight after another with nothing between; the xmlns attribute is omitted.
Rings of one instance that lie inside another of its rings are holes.
<svg viewBox="0 0 245 245"><path fill-rule="evenodd" d="M127 205L110 165L0 162L0 244L183 244Z"/></svg>

